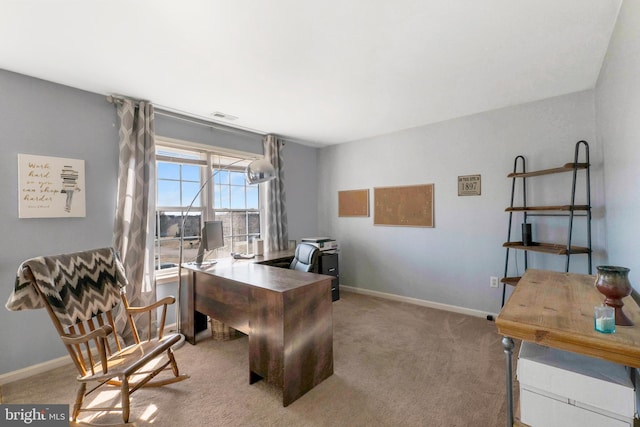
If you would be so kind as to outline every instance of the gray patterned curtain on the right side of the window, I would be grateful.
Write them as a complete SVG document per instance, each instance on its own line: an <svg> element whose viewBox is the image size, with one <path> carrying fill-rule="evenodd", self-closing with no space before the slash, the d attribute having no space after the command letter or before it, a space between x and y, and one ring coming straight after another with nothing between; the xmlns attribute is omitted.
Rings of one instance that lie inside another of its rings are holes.
<svg viewBox="0 0 640 427"><path fill-rule="evenodd" d="M265 157L276 170L276 178L264 184L266 196L264 240L270 251L285 250L289 247L289 231L282 162L284 141L275 135L267 135L263 142Z"/></svg>

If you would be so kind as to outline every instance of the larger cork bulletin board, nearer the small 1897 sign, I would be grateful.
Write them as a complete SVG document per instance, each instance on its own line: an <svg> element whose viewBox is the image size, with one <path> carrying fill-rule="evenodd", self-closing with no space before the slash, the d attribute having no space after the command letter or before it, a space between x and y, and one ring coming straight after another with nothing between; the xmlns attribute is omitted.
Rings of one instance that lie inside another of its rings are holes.
<svg viewBox="0 0 640 427"><path fill-rule="evenodd" d="M373 189L374 225L433 227L433 184Z"/></svg>

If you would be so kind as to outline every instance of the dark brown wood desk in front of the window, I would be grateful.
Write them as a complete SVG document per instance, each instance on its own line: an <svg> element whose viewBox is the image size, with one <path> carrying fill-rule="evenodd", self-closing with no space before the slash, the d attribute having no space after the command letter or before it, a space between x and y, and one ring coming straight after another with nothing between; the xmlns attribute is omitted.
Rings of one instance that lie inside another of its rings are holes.
<svg viewBox="0 0 640 427"><path fill-rule="evenodd" d="M333 277L260 264L283 255L185 264L180 331L195 344L199 312L247 334L249 383L281 388L287 406L333 374Z"/></svg>

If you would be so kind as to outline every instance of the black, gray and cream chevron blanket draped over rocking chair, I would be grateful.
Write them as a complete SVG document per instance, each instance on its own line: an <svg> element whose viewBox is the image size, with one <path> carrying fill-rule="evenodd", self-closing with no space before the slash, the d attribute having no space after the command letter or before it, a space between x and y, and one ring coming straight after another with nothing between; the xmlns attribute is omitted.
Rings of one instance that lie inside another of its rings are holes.
<svg viewBox="0 0 640 427"><path fill-rule="evenodd" d="M36 285L63 326L72 326L111 310L127 285L124 268L113 248L42 256L24 261L5 307L11 311L44 308L32 283L24 276L29 266Z"/></svg>

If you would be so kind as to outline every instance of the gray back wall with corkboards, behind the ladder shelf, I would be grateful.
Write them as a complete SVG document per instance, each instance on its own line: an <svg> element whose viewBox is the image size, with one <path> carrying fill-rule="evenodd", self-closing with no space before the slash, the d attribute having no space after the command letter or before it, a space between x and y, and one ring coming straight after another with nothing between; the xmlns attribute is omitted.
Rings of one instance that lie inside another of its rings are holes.
<svg viewBox="0 0 640 427"><path fill-rule="evenodd" d="M594 94L585 91L322 149L319 229L339 240L341 283L498 312L501 290L489 287L489 277L503 274L507 174L514 158L524 155L528 170L561 166L573 161L581 139L591 148L592 204L600 213L593 223L593 246L599 259L604 196L602 150L595 135ZM457 177L472 174L482 176L482 195L458 197ZM369 188L373 210L374 187L426 183L435 184L434 228L374 226L372 216L337 216L340 190ZM530 205L570 200L571 174L528 183ZM584 242L586 227L575 229L581 233L575 244ZM562 243L565 230L564 224L534 224L534 239ZM532 258L530 267L564 270L564 257ZM574 256L571 271L587 272L586 260Z"/></svg>

